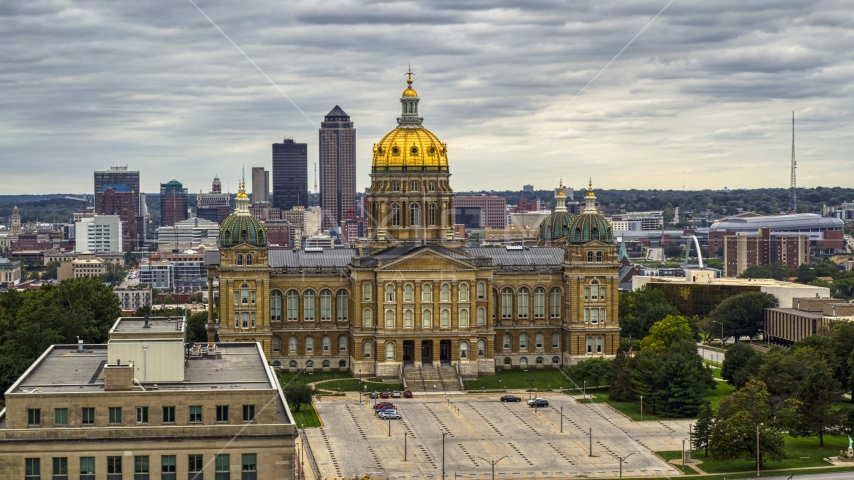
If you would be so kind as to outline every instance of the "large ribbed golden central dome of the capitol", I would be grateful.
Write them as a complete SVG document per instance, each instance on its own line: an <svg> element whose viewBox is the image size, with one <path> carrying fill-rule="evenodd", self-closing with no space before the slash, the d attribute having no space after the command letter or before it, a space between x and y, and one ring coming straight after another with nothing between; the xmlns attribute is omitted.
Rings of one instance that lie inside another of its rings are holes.
<svg viewBox="0 0 854 480"><path fill-rule="evenodd" d="M397 127L374 145L373 170L448 170L448 147L424 127Z"/></svg>

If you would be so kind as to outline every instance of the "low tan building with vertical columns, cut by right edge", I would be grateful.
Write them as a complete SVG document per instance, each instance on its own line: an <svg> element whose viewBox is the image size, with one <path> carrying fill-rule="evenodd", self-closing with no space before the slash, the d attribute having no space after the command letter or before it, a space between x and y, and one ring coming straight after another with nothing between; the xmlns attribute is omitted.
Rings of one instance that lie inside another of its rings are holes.
<svg viewBox="0 0 854 480"><path fill-rule="evenodd" d="M791 308L765 309L765 332L770 343L790 346L798 340L827 332L836 322L854 321L854 304L838 298L793 298Z"/></svg>

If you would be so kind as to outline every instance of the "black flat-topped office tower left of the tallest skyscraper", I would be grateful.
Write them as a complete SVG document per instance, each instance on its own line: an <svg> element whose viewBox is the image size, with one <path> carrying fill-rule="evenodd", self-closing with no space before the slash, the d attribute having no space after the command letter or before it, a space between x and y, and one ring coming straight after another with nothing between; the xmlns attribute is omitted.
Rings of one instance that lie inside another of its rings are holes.
<svg viewBox="0 0 854 480"><path fill-rule="evenodd" d="M308 207L308 145L286 138L273 144L273 206Z"/></svg>

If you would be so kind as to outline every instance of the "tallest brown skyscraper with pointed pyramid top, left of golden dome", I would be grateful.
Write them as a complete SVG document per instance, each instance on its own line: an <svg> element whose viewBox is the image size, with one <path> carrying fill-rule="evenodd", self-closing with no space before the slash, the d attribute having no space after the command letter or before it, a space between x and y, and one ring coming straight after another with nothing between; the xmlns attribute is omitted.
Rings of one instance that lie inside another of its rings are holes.
<svg viewBox="0 0 854 480"><path fill-rule="evenodd" d="M356 129L338 105L320 124L320 208L323 229L356 211Z"/></svg>

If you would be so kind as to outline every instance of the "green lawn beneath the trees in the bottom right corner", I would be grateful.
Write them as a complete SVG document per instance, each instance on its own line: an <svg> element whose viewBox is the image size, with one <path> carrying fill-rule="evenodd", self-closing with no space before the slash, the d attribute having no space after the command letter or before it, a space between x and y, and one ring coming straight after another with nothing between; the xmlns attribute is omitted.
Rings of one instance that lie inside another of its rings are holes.
<svg viewBox="0 0 854 480"><path fill-rule="evenodd" d="M824 448L819 448L818 437L792 438L785 437L786 458L779 462L766 461L763 470L780 470L787 468L824 467L832 464L825 462L824 457L839 455L839 451L848 448L848 439L845 437L824 437ZM681 458L681 453L676 451L656 452L666 460ZM692 458L702 460L698 467L708 473L724 472L748 472L756 471L756 461L747 459L715 460L711 456L705 457L702 450L691 453Z"/></svg>

